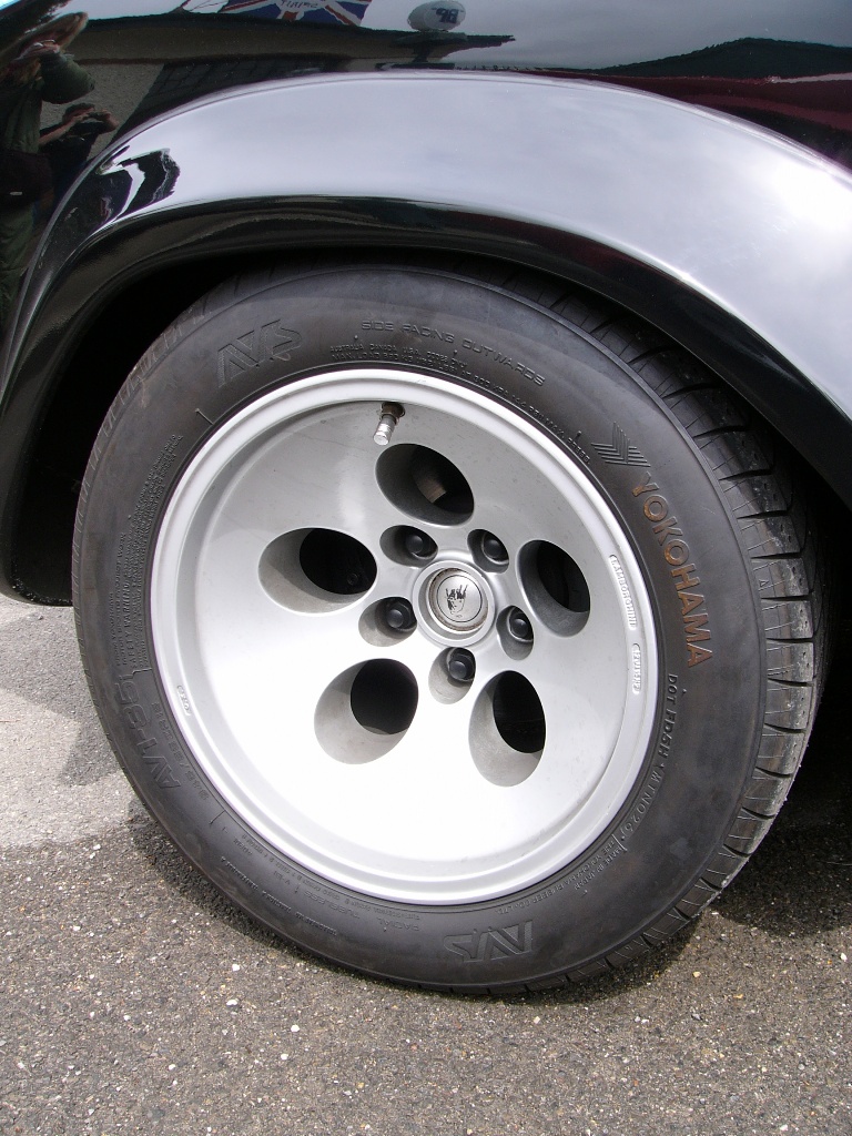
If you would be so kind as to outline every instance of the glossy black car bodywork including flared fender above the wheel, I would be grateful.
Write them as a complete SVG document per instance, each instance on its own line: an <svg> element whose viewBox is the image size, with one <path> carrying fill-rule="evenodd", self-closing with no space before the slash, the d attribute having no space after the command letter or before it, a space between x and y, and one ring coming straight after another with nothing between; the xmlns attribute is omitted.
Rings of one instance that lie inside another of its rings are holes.
<svg viewBox="0 0 852 1136"><path fill-rule="evenodd" d="M49 91L51 66L78 89ZM22 68L27 131L8 111L0 144L49 174L24 206L0 169L0 529L31 452L78 483L123 377L217 279L365 245L604 293L795 424L852 499L847 0L17 0L9 107ZM800 174L771 132L840 165ZM57 462L80 383L91 420Z"/></svg>

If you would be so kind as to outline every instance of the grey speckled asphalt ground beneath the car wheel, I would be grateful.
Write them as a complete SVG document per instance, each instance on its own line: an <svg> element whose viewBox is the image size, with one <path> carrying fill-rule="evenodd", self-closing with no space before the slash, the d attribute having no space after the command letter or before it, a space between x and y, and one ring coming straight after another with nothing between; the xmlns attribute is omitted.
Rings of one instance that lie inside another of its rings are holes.
<svg viewBox="0 0 852 1136"><path fill-rule="evenodd" d="M473 999L317 962L159 834L70 612L0 600L0 1133L852 1134L850 663L713 908L638 966Z"/></svg>

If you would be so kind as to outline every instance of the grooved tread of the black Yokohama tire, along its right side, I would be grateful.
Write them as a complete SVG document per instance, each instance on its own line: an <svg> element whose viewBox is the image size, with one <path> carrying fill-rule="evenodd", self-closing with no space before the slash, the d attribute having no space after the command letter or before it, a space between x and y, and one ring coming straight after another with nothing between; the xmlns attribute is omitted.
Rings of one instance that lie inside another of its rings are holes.
<svg viewBox="0 0 852 1136"><path fill-rule="evenodd" d="M655 333L632 317L609 320L591 334L665 402L719 484L752 563L768 678L754 768L728 834L674 908L608 954L618 967L676 934L711 903L758 847L786 800L822 687L828 580L816 521L795 487L792 458L750 408L687 352L670 344L649 349Z"/></svg>

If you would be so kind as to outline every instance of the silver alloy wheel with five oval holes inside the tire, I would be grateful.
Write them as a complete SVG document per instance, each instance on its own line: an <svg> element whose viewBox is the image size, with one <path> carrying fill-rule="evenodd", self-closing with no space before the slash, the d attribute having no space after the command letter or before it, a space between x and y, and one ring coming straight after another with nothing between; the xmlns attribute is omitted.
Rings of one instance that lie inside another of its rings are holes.
<svg viewBox="0 0 852 1136"><path fill-rule="evenodd" d="M219 427L169 502L150 603L225 801L368 895L538 883L644 763L657 645L628 541L543 432L429 375L315 376Z"/></svg>

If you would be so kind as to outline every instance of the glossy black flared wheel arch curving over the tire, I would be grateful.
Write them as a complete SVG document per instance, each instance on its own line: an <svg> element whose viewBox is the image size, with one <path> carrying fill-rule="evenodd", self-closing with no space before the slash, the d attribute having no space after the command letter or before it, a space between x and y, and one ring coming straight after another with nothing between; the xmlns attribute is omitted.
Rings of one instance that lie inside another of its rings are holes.
<svg viewBox="0 0 852 1136"><path fill-rule="evenodd" d="M276 132L287 145L270 148ZM47 234L0 408L7 588L66 598L73 508L45 525L36 471L65 443L87 452L147 344L245 266L344 248L479 254L603 294L711 366L852 504L852 178L757 127L603 84L300 80L120 140Z"/></svg>

